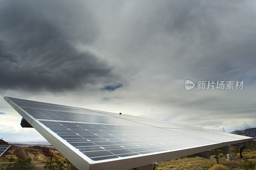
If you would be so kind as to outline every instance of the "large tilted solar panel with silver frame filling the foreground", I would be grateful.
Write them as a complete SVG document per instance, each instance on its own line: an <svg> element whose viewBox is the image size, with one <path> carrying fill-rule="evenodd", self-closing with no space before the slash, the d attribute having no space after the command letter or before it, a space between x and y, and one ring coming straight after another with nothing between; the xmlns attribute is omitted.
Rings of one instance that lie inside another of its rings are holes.
<svg viewBox="0 0 256 170"><path fill-rule="evenodd" d="M4 99L78 169L129 169L253 139L132 115Z"/></svg>

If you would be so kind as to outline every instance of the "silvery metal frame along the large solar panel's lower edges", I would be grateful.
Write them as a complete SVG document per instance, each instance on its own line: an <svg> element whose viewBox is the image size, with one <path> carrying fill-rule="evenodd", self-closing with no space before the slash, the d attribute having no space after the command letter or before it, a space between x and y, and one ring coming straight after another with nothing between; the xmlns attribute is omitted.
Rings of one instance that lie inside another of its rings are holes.
<svg viewBox="0 0 256 170"><path fill-rule="evenodd" d="M124 169L125 170L125 169L130 169L134 167L145 166L145 165L161 162L164 160L183 157L183 156L187 156L187 155L191 155L199 152L205 152L208 150L220 148L222 146L237 144L245 141L250 141L253 139L250 137L243 137L244 139L240 138L237 141L230 141L230 142L224 142L224 143L212 142L212 144L209 144L209 145L201 145L197 147L188 147L183 149L176 149L172 151L164 151L164 152L157 152L157 153L148 153L148 154L143 154L142 156L135 155L135 156L129 156L129 157L123 157L123 158L94 161L88 158L87 156L85 156L82 152L80 152L74 146L66 142L64 139L59 137L56 133L54 133L52 130L47 128L43 123L39 122L39 120L34 119L26 111L24 111L22 108L17 106L11 100L9 100L8 97L4 97L4 100L6 100L28 123L30 123L48 142L50 142L78 169L85 169L85 170L98 170L98 169L122 170ZM43 120L43 121L48 121L48 120ZM205 131L207 130L208 129L205 129ZM218 131L214 131L214 132L216 133ZM233 135L234 134L232 134L232 136ZM237 135L236 137L238 138L240 137L240 135Z"/></svg>

